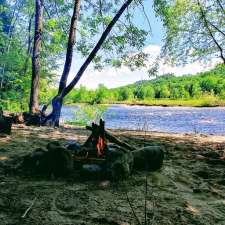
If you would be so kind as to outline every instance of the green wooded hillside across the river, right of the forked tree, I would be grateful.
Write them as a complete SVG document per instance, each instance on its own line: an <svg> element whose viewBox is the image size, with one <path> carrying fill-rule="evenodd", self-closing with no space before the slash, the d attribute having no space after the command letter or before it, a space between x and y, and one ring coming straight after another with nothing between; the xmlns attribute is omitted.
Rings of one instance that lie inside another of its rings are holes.
<svg viewBox="0 0 225 225"><path fill-rule="evenodd" d="M225 99L224 65L197 75L170 74L115 89L99 85L94 91L81 86L68 96L66 103L138 103L143 100L147 103L152 99L189 100L208 96Z"/></svg>

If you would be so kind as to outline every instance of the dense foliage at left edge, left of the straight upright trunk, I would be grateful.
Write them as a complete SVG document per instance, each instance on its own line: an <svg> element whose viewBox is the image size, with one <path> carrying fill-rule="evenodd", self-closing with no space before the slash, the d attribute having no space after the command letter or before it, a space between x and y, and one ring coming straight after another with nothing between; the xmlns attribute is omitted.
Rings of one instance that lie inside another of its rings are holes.
<svg viewBox="0 0 225 225"><path fill-rule="evenodd" d="M21 17L23 2L0 3L0 105L8 110L23 110L29 82L27 76L21 76L26 55L22 48L26 34L25 16Z"/></svg>

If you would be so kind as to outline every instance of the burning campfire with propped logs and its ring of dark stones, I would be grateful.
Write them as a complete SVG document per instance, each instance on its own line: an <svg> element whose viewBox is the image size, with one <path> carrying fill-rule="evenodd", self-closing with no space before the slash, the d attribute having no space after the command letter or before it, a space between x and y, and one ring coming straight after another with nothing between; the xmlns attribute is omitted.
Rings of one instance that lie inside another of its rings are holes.
<svg viewBox="0 0 225 225"><path fill-rule="evenodd" d="M31 167L59 176L77 170L88 179L124 179L133 169L156 170L162 166L161 146L137 149L107 131L102 119L99 124L92 123L86 129L91 134L83 145L74 142L65 147L58 142L50 142L47 149L37 149L26 157L26 169L31 171Z"/></svg>

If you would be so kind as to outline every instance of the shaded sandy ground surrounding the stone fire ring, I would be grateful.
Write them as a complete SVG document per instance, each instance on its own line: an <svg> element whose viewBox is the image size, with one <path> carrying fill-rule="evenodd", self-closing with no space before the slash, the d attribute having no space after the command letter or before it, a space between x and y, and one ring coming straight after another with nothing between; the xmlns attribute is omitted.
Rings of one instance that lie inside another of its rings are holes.
<svg viewBox="0 0 225 225"><path fill-rule="evenodd" d="M49 141L65 145L76 140L82 144L89 132L73 126L14 126L11 136L0 137L1 224L137 224L132 209L144 223L145 199L148 221L154 225L224 224L225 165L212 165L209 158L225 154L224 136L112 132L137 148L164 146L163 168L134 172L119 183L28 176L15 170L22 156L45 147ZM21 218L32 203L25 218Z"/></svg>

